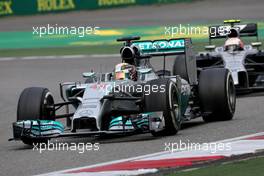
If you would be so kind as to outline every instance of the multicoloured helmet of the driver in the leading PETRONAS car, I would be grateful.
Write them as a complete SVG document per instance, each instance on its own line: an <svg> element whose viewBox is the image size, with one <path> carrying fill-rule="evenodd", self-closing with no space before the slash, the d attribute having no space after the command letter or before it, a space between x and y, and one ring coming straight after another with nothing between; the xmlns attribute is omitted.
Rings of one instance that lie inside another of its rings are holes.
<svg viewBox="0 0 264 176"><path fill-rule="evenodd" d="M131 79L136 81L137 71L136 67L128 63L119 63L115 66L115 79L116 80L127 80Z"/></svg>

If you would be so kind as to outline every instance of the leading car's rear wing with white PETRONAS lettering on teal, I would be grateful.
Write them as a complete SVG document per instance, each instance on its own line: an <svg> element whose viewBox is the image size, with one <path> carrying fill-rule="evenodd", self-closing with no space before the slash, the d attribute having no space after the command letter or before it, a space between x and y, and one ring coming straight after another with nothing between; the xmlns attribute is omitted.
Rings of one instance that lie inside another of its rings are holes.
<svg viewBox="0 0 264 176"><path fill-rule="evenodd" d="M192 41L190 38L142 40L133 41L132 46L140 50L140 55L164 56L163 69L165 70L165 57L173 55L184 55L186 70L184 75L190 84L197 84L196 59L192 51ZM181 76L181 75L180 75Z"/></svg>

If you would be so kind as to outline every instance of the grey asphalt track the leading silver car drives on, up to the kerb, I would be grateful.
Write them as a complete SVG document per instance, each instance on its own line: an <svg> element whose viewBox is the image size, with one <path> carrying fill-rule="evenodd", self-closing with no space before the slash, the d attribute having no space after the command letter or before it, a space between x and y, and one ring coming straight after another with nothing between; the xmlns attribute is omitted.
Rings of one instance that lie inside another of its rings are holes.
<svg viewBox="0 0 264 176"><path fill-rule="evenodd" d="M58 81L82 80L81 72L91 68L98 70L100 63L114 65L118 62L119 58L1 61L0 175L39 174L159 152L164 150L165 142L210 142L263 131L264 98L250 97L238 99L234 120L206 124L196 119L186 123L178 135L171 137L153 138L151 134L143 134L116 139L67 138L58 141L100 143L99 151L86 151L83 154L78 151L44 151L40 154L21 142L7 141L12 136L11 122L16 120L17 100L23 88L48 87L59 100ZM153 60L155 67L160 62ZM108 65L104 69L112 70Z"/></svg>

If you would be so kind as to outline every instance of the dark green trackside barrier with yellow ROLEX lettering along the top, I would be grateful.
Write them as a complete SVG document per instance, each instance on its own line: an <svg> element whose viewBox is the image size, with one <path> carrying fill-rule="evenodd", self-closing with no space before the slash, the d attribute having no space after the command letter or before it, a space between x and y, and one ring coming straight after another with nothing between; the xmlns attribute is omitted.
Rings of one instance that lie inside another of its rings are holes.
<svg viewBox="0 0 264 176"><path fill-rule="evenodd" d="M190 1L192 0L0 0L0 17Z"/></svg>

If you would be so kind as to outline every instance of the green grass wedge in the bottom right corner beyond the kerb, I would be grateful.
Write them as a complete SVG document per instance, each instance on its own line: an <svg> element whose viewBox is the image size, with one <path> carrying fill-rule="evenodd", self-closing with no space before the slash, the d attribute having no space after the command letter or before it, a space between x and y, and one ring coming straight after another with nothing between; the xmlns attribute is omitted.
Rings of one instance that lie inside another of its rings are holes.
<svg viewBox="0 0 264 176"><path fill-rule="evenodd" d="M264 175L264 157L213 165L166 176L261 176Z"/></svg>

